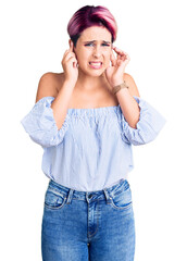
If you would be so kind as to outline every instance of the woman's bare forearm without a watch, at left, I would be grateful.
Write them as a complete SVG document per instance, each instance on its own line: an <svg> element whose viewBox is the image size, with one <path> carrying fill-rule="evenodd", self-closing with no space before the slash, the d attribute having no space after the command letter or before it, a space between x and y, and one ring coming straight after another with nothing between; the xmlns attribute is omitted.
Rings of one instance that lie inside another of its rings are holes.
<svg viewBox="0 0 187 261"><path fill-rule="evenodd" d="M71 100L71 96L74 89L74 83L64 82L58 96L51 103L51 108L53 110L53 116L58 126L58 129L62 127L62 124L65 120L68 103Z"/></svg>

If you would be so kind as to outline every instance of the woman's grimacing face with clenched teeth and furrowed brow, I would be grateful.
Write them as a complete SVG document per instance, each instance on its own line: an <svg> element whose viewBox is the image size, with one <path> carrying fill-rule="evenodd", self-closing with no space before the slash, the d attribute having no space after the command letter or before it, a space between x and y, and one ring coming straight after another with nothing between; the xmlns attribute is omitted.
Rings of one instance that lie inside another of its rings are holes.
<svg viewBox="0 0 187 261"><path fill-rule="evenodd" d="M105 27L85 29L74 48L79 70L90 76L100 76L110 66L111 40L112 35Z"/></svg>

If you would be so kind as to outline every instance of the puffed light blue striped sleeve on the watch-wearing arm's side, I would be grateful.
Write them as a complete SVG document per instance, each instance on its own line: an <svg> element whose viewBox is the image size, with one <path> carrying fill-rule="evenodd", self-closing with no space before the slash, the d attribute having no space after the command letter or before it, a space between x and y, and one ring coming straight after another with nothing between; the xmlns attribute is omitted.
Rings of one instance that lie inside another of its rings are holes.
<svg viewBox="0 0 187 261"><path fill-rule="evenodd" d="M137 128L132 128L122 113L122 135L124 140L135 146L152 141L165 124L165 119L147 101L134 96L140 108Z"/></svg>

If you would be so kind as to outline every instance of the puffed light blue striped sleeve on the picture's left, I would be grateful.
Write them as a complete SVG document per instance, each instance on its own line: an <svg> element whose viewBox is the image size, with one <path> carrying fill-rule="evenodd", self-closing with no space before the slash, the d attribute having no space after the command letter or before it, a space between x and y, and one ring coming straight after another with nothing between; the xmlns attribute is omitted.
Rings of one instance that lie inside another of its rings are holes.
<svg viewBox="0 0 187 261"><path fill-rule="evenodd" d="M29 137L42 147L57 146L62 142L68 128L70 116L66 114L62 127L58 129L51 108L53 100L54 97L41 98L21 121Z"/></svg>

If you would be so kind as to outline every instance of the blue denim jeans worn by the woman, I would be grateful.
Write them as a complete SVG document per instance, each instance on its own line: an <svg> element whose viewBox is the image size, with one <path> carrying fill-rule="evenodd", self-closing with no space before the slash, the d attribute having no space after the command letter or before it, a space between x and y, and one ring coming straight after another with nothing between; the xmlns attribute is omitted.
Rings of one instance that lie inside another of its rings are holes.
<svg viewBox="0 0 187 261"><path fill-rule="evenodd" d="M135 221L128 182L87 192L50 179L41 252L43 261L133 261Z"/></svg>

